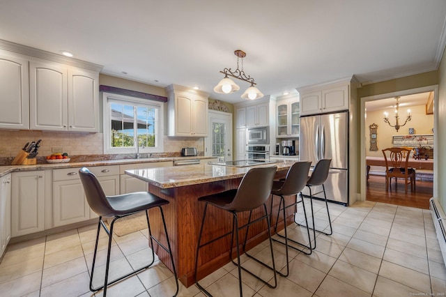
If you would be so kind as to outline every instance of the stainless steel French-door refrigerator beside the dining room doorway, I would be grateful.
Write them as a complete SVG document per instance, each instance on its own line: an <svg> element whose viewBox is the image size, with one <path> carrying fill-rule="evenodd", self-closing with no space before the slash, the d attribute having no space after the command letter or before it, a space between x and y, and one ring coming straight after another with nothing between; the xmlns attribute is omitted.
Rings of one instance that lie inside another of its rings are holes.
<svg viewBox="0 0 446 297"><path fill-rule="evenodd" d="M300 117L299 160L332 159L325 181L329 201L348 205L348 112ZM310 169L311 170L311 169ZM313 187L316 198L323 199L322 186ZM302 194L309 195L306 187Z"/></svg>

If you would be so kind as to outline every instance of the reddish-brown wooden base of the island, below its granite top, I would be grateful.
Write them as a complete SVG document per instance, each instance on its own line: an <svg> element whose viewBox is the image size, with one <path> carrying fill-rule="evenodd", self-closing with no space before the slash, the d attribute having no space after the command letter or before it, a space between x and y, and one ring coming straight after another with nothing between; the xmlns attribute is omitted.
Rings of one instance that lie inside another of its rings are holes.
<svg viewBox="0 0 446 297"><path fill-rule="evenodd" d="M288 168L279 169L276 173L276 178L286 176ZM160 188L157 185L148 183L148 191L169 200L170 204L163 206L164 216L167 222L169 232L169 239L171 248L174 253L174 261L178 278L185 287L190 287L194 284L194 265L195 253L197 249L197 241L199 236L199 229L201 226L201 219L203 218L204 203L197 199L201 196L210 195L224 190L236 189L240 184L242 178L231 178L224 181L213 181L209 183L199 183L197 185L185 185L175 188ZM270 203L272 197L268 199L268 212L270 211ZM295 196L287 197L294 201ZM279 199L275 197L275 204L272 208L272 213L277 214ZM287 224L293 222L293 209L287 210ZM157 210L150 211L150 219L152 232L160 241L167 244L160 224L160 212ZM263 214L263 208L257 208L253 212L252 220L259 218ZM245 224L248 220L249 212L242 213L239 216L240 225ZM275 223L276 215L272 215ZM208 207L208 214L206 215L206 224L203 229L203 242L211 238L215 238L222 234L231 231L232 228L231 214L219 210L213 206ZM279 224L279 229L283 229L284 224ZM273 228L271 228L273 232ZM240 243L245 239L245 229L240 232ZM259 243L268 238L267 224L263 220L249 227L249 234L247 235L247 250L254 248ZM234 241L235 242L235 241ZM226 236L219 241L215 241L210 245L200 250L198 279L206 277L213 271L229 263L229 250L231 244L231 236ZM241 249L241 246L240 246ZM155 253L161 261L172 270L168 254L155 246ZM233 257L236 257L236 250L233 248Z"/></svg>

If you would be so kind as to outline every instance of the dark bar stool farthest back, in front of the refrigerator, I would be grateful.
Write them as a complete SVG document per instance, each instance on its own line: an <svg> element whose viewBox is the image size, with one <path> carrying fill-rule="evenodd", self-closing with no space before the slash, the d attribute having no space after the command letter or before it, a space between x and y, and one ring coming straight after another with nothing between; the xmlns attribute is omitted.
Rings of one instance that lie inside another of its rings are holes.
<svg viewBox="0 0 446 297"><path fill-rule="evenodd" d="M316 165L314 166L313 169L313 173L311 176L308 177L308 181L307 181L307 187L309 189L309 196L306 195L302 195L305 197L309 197L309 201L310 204L312 206L312 220L313 220L313 228L309 227L310 229L313 230L313 236L314 236L314 247L313 249L316 248L316 231L323 233L325 235L332 235L333 234L333 229L332 229L332 221L330 219L330 211L328 210L328 201L327 201L327 195L325 195L325 186L323 185L323 183L325 183L325 181L327 180L328 177L328 172L330 170L330 162L332 162L331 159L321 159L319 160ZM312 187L315 187L317 185L322 185L322 190L320 192L316 192L316 193L312 193ZM327 214L328 214L328 222L330 224L330 232L324 232L321 230L316 230L316 228L314 227L314 211L313 211L313 195L318 195L321 192L323 192L323 197L325 200L325 207L327 208ZM302 225L303 226L303 225ZM308 226L308 223L307 223Z"/></svg>

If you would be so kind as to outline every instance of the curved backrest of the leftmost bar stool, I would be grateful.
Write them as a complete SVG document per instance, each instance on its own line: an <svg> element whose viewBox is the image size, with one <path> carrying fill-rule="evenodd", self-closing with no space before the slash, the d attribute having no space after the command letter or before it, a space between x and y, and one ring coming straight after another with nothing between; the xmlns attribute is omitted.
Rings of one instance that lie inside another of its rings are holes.
<svg viewBox="0 0 446 297"><path fill-rule="evenodd" d="M89 202L90 208L100 216L113 216L114 211L110 206L104 190L96 178L96 176L90 172L86 167L79 169L79 176L84 186L84 192L86 201Z"/></svg>

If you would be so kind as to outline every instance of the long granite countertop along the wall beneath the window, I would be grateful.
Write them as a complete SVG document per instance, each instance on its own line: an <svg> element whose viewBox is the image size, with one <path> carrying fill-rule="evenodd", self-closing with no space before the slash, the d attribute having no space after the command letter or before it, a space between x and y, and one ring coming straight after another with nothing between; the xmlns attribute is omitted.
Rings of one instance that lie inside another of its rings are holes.
<svg viewBox="0 0 446 297"><path fill-rule="evenodd" d="M82 162L67 162L67 163L53 163L53 164L36 164L36 165L8 165L0 166L0 177L11 172L27 172L44 169L60 169L60 168L74 168L87 166L106 166L106 165L123 165L123 164L137 164L137 163L153 163L174 160L187 159L214 159L215 157L194 156L194 157L163 157L163 158L139 158L139 159L123 159L123 160L101 160L101 161L82 161ZM178 169L178 167L175 167Z"/></svg>

